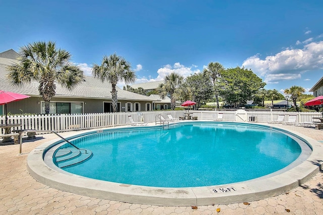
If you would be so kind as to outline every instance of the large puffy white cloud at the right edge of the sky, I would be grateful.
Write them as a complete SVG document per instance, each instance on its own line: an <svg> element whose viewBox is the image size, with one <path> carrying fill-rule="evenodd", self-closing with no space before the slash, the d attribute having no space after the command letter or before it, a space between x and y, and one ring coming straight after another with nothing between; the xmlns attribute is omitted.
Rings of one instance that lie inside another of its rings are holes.
<svg viewBox="0 0 323 215"><path fill-rule="evenodd" d="M251 68L267 83L299 79L305 71L323 69L323 41L311 42L303 49L283 50L264 59L256 54L247 58L242 66Z"/></svg>

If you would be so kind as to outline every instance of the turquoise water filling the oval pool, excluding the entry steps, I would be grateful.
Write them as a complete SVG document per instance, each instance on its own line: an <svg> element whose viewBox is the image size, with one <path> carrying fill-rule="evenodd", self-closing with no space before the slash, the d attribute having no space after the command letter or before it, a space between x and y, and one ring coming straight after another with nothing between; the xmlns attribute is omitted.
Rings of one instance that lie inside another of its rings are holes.
<svg viewBox="0 0 323 215"><path fill-rule="evenodd" d="M64 168L125 184L196 187L258 178L283 169L301 153L298 143L256 125L196 122L163 128L95 133L71 140L93 157Z"/></svg>

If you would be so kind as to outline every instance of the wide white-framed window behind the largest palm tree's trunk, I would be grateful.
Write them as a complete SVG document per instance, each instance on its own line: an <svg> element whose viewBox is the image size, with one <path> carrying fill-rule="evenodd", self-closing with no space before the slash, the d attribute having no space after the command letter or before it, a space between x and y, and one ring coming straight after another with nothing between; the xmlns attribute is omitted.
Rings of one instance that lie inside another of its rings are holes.
<svg viewBox="0 0 323 215"><path fill-rule="evenodd" d="M45 113L45 102L41 102L41 113ZM82 114L83 102L50 102L50 114Z"/></svg>

